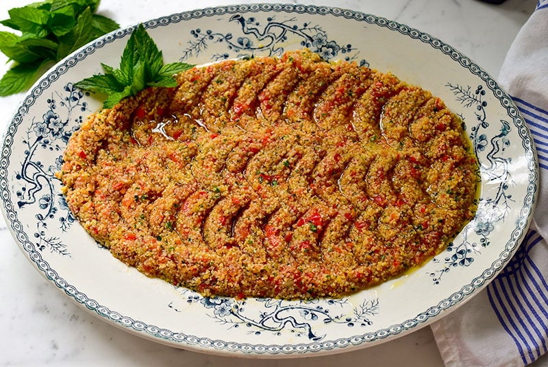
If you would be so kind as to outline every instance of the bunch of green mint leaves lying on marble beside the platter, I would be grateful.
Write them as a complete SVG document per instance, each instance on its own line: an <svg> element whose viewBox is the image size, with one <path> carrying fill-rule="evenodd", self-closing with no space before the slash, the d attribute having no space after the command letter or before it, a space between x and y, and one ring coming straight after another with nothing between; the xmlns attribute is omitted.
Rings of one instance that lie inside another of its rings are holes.
<svg viewBox="0 0 548 367"><path fill-rule="evenodd" d="M13 8L0 21L18 34L0 32L0 51L14 61L0 80L0 96L27 89L44 71L79 47L119 28L93 14L99 0L47 0Z"/></svg>

